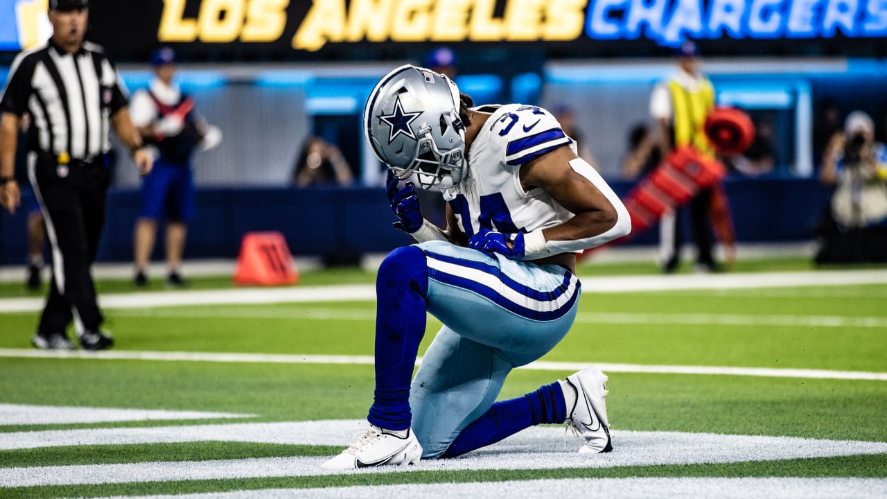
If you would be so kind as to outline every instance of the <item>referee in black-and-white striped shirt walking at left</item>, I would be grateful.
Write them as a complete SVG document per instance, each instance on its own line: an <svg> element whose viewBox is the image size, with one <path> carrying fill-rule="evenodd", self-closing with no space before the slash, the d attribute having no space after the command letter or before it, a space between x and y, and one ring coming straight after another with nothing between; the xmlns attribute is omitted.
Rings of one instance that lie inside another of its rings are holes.
<svg viewBox="0 0 887 499"><path fill-rule="evenodd" d="M142 175L153 163L130 122L114 66L101 47L83 42L88 17L88 0L50 0L50 40L12 62L0 98L0 203L10 212L20 203L14 162L27 113L27 173L51 244L52 281L33 339L37 348L75 348L66 333L72 321L84 350L114 345L101 329L90 273L105 224L110 129L130 147Z"/></svg>

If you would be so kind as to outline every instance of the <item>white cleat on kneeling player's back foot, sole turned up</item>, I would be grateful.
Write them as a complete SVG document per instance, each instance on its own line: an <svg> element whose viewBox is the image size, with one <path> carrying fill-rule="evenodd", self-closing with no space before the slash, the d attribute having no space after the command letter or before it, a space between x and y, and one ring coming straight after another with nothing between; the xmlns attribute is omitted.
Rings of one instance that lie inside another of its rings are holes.
<svg viewBox="0 0 887 499"><path fill-rule="evenodd" d="M567 381L577 392L576 406L567 418L567 426L585 439L585 443L579 448L579 454L598 454L613 450L609 436L607 402L604 401L609 393L607 379L607 375L594 366L567 376Z"/></svg>

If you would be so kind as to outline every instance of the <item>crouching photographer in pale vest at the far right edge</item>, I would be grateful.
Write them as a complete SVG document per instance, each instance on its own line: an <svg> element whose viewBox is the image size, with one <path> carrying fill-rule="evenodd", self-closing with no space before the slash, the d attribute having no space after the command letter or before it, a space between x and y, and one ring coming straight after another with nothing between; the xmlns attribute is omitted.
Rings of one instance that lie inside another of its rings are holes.
<svg viewBox="0 0 887 499"><path fill-rule="evenodd" d="M887 147L875 142L875 123L853 111L822 160L820 181L834 186L817 263L887 261Z"/></svg>

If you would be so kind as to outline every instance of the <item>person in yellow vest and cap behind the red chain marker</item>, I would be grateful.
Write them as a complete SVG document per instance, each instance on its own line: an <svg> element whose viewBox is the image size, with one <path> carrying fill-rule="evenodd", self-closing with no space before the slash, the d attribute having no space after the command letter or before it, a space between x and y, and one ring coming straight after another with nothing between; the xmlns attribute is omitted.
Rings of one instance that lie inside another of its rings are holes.
<svg viewBox="0 0 887 499"><path fill-rule="evenodd" d="M699 69L699 51L696 44L687 41L676 51L678 67L662 82L656 83L650 96L650 115L659 127L659 145L662 157L673 148L691 146L703 155L714 156L714 147L705 135L705 118L715 108L715 90L708 77ZM710 207L713 192L720 186L702 189L686 205L690 227L697 249L696 270L718 270L712 247ZM723 201L723 200L722 200ZM671 273L680 263L680 246L683 242L681 212L676 207L663 215L660 222L660 263L663 271ZM732 227L732 224L731 224ZM718 227L719 228L719 227ZM723 232L723 231L718 231ZM728 259L733 259L734 246L726 248Z"/></svg>

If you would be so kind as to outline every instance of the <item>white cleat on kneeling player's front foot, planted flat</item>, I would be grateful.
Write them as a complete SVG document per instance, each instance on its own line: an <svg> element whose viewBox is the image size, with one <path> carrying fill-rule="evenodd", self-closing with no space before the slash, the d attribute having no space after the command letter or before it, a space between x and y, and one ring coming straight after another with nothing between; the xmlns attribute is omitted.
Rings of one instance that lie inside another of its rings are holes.
<svg viewBox="0 0 887 499"><path fill-rule="evenodd" d="M421 457L422 446L412 429L394 432L371 424L369 430L357 436L351 447L320 467L327 470L356 470L389 464L415 464L419 463Z"/></svg>

